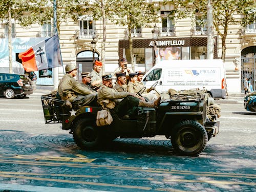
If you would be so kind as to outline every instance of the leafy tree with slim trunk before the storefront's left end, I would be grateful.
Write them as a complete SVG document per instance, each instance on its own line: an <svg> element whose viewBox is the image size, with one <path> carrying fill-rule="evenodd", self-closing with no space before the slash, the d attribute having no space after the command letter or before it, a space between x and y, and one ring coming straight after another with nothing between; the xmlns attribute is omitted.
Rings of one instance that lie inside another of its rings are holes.
<svg viewBox="0 0 256 192"><path fill-rule="evenodd" d="M111 21L115 24L127 26L132 69L134 66L132 29L152 23L158 23L160 6L147 3L146 0L109 0Z"/></svg>

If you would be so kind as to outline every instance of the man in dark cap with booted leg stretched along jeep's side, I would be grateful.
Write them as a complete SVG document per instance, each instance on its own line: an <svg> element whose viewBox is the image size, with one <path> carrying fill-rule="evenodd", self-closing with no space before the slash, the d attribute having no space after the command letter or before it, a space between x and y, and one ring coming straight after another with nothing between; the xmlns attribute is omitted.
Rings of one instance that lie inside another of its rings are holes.
<svg viewBox="0 0 256 192"><path fill-rule="evenodd" d="M98 103L103 105L106 103L106 107L111 106L117 115L134 115L135 111L138 111L138 106L146 108L155 108L159 106L161 98L159 97L154 102L146 102L135 97L134 93L129 92L118 92L113 89L112 75L102 75L103 86L98 91ZM123 98L123 99L122 99ZM122 99L118 102L118 99Z"/></svg>

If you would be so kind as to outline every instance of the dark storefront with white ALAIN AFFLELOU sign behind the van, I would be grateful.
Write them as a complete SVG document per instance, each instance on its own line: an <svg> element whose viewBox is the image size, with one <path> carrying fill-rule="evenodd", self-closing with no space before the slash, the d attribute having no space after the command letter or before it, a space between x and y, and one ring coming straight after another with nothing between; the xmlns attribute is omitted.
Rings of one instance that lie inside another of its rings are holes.
<svg viewBox="0 0 256 192"><path fill-rule="evenodd" d="M217 42L217 37L215 37ZM206 59L207 37L159 38L155 54L152 39L133 39L135 70L148 71L153 63L173 59ZM119 60L125 57L131 63L129 40L119 40ZM217 46L214 45L214 59L217 59Z"/></svg>

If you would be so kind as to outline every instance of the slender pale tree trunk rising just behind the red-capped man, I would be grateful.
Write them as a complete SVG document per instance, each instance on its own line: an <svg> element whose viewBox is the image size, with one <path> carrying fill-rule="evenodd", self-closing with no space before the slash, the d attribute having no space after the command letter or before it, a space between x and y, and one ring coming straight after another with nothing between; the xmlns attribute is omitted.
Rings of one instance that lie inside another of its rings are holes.
<svg viewBox="0 0 256 192"><path fill-rule="evenodd" d="M103 25L103 38L101 48L101 62L102 62L102 74L105 73L105 45L106 45L106 15L104 0L101 0L101 12L102 12L102 25Z"/></svg>

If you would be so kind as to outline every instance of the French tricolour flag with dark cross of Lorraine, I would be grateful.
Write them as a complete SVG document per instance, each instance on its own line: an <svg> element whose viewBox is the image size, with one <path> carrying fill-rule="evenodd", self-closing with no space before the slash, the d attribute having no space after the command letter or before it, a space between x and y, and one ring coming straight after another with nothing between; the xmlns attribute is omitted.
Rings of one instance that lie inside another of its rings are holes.
<svg viewBox="0 0 256 192"><path fill-rule="evenodd" d="M27 72L62 66L58 35L54 35L18 54Z"/></svg>

